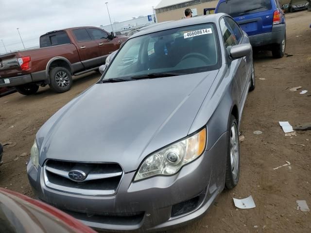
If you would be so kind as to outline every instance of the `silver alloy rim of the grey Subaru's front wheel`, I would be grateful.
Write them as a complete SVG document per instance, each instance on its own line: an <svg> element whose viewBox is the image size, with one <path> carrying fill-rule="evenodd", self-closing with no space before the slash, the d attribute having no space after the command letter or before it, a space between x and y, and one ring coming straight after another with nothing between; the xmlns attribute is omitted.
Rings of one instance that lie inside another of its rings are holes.
<svg viewBox="0 0 311 233"><path fill-rule="evenodd" d="M239 135L236 124L232 124L230 133L230 161L232 177L236 179L239 173Z"/></svg>

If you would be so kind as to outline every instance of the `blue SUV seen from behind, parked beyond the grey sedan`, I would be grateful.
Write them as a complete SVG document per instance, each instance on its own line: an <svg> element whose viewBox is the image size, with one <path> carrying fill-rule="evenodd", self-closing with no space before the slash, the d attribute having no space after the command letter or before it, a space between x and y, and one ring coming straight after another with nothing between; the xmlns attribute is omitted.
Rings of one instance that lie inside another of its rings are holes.
<svg viewBox="0 0 311 233"><path fill-rule="evenodd" d="M286 25L279 0L220 0L215 13L233 17L253 47L265 47L275 58L284 56Z"/></svg>

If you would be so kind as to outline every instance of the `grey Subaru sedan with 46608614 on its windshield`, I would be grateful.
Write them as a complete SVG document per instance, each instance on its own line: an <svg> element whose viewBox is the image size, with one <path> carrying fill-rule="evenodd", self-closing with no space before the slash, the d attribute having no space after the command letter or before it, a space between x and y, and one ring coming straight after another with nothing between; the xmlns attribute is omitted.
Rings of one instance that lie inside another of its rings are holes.
<svg viewBox="0 0 311 233"><path fill-rule="evenodd" d="M237 185L239 126L254 88L252 46L232 17L142 30L37 132L31 186L95 229L185 224Z"/></svg>

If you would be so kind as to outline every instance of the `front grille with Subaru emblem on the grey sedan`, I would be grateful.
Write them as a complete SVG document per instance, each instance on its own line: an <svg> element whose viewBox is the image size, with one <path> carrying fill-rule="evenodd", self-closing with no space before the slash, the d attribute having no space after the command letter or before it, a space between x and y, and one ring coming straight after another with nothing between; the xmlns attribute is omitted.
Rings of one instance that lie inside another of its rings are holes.
<svg viewBox="0 0 311 233"><path fill-rule="evenodd" d="M118 189L122 175L121 166L112 163L48 160L44 166L44 182L47 187L87 196L113 195Z"/></svg>

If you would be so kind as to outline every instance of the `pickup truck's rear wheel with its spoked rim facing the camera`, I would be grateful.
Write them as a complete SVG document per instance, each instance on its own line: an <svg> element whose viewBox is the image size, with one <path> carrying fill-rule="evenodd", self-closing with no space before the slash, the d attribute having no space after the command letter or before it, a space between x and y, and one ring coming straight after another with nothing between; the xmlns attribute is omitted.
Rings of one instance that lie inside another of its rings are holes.
<svg viewBox="0 0 311 233"><path fill-rule="evenodd" d="M50 71L50 88L58 93L69 91L72 85L72 77L68 69L54 67Z"/></svg>

